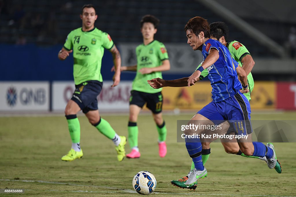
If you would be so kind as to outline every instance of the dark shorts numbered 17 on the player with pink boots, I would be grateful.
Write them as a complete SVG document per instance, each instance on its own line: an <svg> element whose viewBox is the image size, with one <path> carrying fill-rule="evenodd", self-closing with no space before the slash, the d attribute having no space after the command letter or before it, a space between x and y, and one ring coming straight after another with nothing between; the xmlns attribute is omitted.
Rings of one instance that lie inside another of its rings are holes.
<svg viewBox="0 0 296 197"><path fill-rule="evenodd" d="M143 108L145 103L147 103L146 106L152 113L160 113L163 110L163 95L161 92L151 94L136 90L131 91L130 105L137 105Z"/></svg>

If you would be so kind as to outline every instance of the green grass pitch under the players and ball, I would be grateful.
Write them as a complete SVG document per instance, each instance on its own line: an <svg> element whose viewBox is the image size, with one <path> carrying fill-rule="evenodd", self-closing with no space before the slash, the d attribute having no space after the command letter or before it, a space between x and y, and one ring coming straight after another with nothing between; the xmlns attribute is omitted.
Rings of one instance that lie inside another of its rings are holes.
<svg viewBox="0 0 296 197"><path fill-rule="evenodd" d="M128 115L101 115L118 134L127 136ZM164 115L168 153L160 158L152 116L140 114L141 157L122 162L117 161L112 141L84 116L78 116L84 155L73 162L61 161L71 147L62 115L0 117L0 188L25 189L25 193L0 196L139 196L132 178L141 170L157 179L150 196L296 196L296 143L274 143L281 174L259 159L226 154L220 143L212 143L205 165L208 176L198 181L196 191L173 187L170 181L187 175L191 166L185 144L176 142L177 120L193 115ZM252 115L253 120L295 118L295 112ZM128 144L126 152L130 152Z"/></svg>

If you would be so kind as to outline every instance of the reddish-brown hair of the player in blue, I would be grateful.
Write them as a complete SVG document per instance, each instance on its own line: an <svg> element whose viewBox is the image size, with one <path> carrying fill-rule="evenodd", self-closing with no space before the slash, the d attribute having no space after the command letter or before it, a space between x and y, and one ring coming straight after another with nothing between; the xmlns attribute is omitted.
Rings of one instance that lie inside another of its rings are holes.
<svg viewBox="0 0 296 197"><path fill-rule="evenodd" d="M185 27L184 27L185 32L189 30L190 32L194 33L196 36L200 32L204 32L205 38L210 38L210 25L207 22L207 19L204 19L202 17L194 17L190 19Z"/></svg>

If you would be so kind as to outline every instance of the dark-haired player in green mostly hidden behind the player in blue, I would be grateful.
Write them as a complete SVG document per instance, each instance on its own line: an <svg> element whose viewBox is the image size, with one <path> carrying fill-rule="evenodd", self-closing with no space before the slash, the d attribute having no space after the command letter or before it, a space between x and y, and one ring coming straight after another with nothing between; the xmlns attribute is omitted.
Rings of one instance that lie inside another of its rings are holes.
<svg viewBox="0 0 296 197"><path fill-rule="evenodd" d="M251 100L250 94L254 87L254 80L251 74L251 70L255 62L253 61L253 58L250 55L247 48L242 43L239 43L238 41L235 41L235 40L228 43L228 32L229 32L228 27L224 22L214 22L210 24L210 37L224 44L228 48L231 56L239 63L239 66L241 66L242 69L244 69L244 71L246 72L250 92L244 93L244 96L247 97L247 99L250 101ZM197 68L199 68L200 66L201 64ZM207 75L208 75L207 69L203 70L200 76L200 80L202 80ZM221 143L224 146L225 152L227 153L237 154L243 157L258 158L263 161L266 161L266 157L247 156L243 154L239 150L239 145L237 144L237 141L235 139L232 139L229 142L221 142ZM202 142L202 162L204 165L207 162L209 155L210 155L210 142ZM191 169L193 168L194 168L194 163L192 162ZM274 168L276 172L281 173L281 165L278 161L276 162L276 166ZM188 175L178 180L172 180L171 183L180 188L195 189L196 185L194 186L185 185L187 179L188 179Z"/></svg>

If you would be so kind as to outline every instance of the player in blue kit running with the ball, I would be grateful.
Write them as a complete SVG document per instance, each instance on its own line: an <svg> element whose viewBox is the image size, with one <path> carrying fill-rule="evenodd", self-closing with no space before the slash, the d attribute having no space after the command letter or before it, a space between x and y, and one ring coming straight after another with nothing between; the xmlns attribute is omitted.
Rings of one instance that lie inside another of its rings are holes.
<svg viewBox="0 0 296 197"><path fill-rule="evenodd" d="M202 51L204 58L200 66L191 76L175 80L152 79L148 83L153 88L160 87L184 87L194 85L200 80L201 72L207 69L212 86L213 101L202 108L192 121L212 122L220 124L228 121L230 124L229 131L236 132L237 135L251 134L252 127L250 123L250 103L247 98L240 92L248 92L248 83L246 72L232 58L229 50L217 40L210 39L210 26L207 20L202 17L194 17L185 25L187 43L194 51ZM239 79L240 81L239 81ZM219 123L216 120L221 120ZM236 125L240 125L239 130L235 130ZM196 133L202 133L199 130ZM192 130L184 131L186 135L194 134ZM189 156L194 162L194 169L188 175L186 185L189 187L197 184L197 180L207 176L207 170L202 163L202 144L199 139L194 142L186 139L186 148ZM264 145L261 142L244 142L238 141L239 149L247 156L266 157L269 168L276 165L276 154L272 144Z"/></svg>

